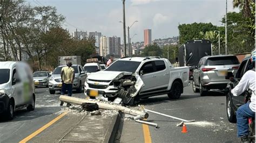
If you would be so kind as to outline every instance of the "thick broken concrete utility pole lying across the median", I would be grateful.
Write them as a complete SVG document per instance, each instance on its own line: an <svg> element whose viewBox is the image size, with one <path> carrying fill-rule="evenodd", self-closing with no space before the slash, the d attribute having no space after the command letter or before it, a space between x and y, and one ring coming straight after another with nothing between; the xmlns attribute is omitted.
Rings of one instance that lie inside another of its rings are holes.
<svg viewBox="0 0 256 143"><path fill-rule="evenodd" d="M117 104L90 101L88 99L70 97L70 96L65 96L65 95L60 95L59 100L63 101L63 102L66 102L66 103L72 103L72 104L78 104L78 105L82 105L83 103L97 103L98 106L99 106L99 109L118 110L118 111L122 111L124 113L127 113L129 115L133 115L133 116L140 115L140 116L142 116L142 118L145 118L145 119L147 119L149 117L149 113L146 113L144 111L139 111L139 110L126 108L122 105L117 105Z"/></svg>

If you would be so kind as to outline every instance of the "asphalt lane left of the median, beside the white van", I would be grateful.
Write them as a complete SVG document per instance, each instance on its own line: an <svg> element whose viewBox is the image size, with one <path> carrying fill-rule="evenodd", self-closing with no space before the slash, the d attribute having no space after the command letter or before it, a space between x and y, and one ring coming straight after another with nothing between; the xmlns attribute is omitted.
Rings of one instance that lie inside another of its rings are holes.
<svg viewBox="0 0 256 143"><path fill-rule="evenodd" d="M0 120L0 142L19 142L56 118L66 105L59 106L59 96L60 92L50 95L48 88L37 88L35 111L19 110L13 120ZM73 96L84 97L84 94L73 92Z"/></svg>

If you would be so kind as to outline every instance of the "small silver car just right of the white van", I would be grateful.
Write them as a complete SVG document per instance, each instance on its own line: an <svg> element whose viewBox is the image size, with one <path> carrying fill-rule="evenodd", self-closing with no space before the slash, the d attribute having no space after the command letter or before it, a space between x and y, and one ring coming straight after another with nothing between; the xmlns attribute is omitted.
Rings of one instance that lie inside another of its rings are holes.
<svg viewBox="0 0 256 143"><path fill-rule="evenodd" d="M48 71L35 71L33 73L33 82L35 87L48 87L50 74Z"/></svg>

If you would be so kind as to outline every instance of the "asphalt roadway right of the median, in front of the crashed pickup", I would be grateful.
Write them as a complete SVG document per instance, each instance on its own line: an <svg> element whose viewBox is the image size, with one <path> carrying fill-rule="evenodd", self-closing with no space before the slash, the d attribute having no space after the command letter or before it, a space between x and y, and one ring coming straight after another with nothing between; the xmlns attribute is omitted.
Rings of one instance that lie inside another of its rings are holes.
<svg viewBox="0 0 256 143"><path fill-rule="evenodd" d="M210 91L208 96L194 94L192 87L187 87L177 100L170 100L167 95L151 97L140 103L145 109L158 111L186 120L187 133L181 133L180 121L150 113L147 121L157 123L160 128L149 127L150 135L143 125L132 120L124 120L120 142L142 142L151 138L152 142L239 142L236 124L229 123L226 116L226 97L224 91Z"/></svg>

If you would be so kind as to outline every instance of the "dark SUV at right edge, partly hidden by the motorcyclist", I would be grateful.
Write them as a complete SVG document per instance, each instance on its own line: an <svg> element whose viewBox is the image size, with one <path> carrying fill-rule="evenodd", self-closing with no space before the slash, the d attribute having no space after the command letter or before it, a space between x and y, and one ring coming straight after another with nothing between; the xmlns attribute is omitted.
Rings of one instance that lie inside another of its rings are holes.
<svg viewBox="0 0 256 143"><path fill-rule="evenodd" d="M238 68L237 74L235 74L235 78L237 78L238 81L241 80L242 75L246 73L246 71L251 70L252 62L250 60L250 57L245 58L242 60L241 65ZM228 78L228 77L227 77ZM242 93L240 96L233 96L233 94L230 93L230 87L234 87L234 83L230 82L227 84L226 87L226 108L227 108L227 119L231 123L236 123L237 118L235 116L235 112L241 106L242 104L245 104L245 92Z"/></svg>

